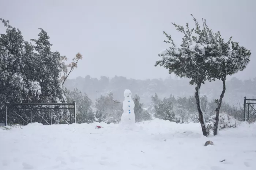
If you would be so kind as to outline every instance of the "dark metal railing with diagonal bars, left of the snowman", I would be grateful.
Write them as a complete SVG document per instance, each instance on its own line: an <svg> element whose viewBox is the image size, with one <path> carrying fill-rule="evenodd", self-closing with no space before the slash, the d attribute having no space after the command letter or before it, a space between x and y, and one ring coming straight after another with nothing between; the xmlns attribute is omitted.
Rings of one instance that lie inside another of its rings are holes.
<svg viewBox="0 0 256 170"><path fill-rule="evenodd" d="M41 107L38 107L41 106ZM45 107L45 106L65 106L63 108L56 108L56 107ZM67 107L66 107L67 106ZM71 106L71 107L69 107ZM16 108L16 111L15 111ZM45 110L50 110L50 121L48 122L44 116L40 115L36 110L37 109L45 109ZM68 109L69 111L69 122L68 120L65 120L63 118L63 115L60 115L60 113L54 111L54 109L59 109L59 110L66 110ZM29 110L30 111L30 121L25 120L22 115L20 115L20 111L17 110ZM66 124L71 124L71 110L73 110L74 114L74 123L76 123L76 102L73 103L6 103L6 115L5 115L5 126L7 126L7 121L8 121L8 113L9 113L9 124L11 126L12 123L12 114L15 116L18 116L18 118L22 119L23 122L29 124L33 122L33 114L38 115L46 124L55 124L58 120L62 119ZM55 113L57 115L57 120L52 123L52 115ZM59 117L58 117L59 116Z"/></svg>

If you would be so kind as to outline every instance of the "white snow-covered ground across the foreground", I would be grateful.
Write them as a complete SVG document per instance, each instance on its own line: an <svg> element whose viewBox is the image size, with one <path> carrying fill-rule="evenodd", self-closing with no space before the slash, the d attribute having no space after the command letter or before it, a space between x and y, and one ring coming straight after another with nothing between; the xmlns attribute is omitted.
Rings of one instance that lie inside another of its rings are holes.
<svg viewBox="0 0 256 170"><path fill-rule="evenodd" d="M195 123L136 125L133 131L105 123L0 129L0 170L256 169L256 124L242 122L208 138ZM205 147L208 140L215 145Z"/></svg>

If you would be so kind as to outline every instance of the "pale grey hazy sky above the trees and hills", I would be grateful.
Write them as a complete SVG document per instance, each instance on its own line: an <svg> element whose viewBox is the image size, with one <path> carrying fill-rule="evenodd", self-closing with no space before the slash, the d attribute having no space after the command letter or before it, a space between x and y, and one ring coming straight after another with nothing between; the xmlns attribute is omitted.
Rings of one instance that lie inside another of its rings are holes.
<svg viewBox="0 0 256 170"><path fill-rule="evenodd" d="M0 18L20 28L25 40L37 39L41 27L52 49L69 61L77 52L83 55L70 78L166 78L167 70L154 67L158 52L168 47L162 33L181 42L183 35L171 22L192 27L191 13L225 40L233 36L250 49L251 62L235 76L256 77L255 0L0 0L0 7Z"/></svg>

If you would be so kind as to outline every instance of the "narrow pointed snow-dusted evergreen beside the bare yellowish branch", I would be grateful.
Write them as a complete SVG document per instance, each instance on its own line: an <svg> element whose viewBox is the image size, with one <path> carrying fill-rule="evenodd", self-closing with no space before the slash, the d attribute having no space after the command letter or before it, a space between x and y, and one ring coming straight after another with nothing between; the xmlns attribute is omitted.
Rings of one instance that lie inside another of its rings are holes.
<svg viewBox="0 0 256 170"><path fill-rule="evenodd" d="M39 28L38 40L31 39L35 43L34 49L37 51L35 57L39 58L37 71L37 81L41 86L42 97L40 102L60 103L65 102L62 84L60 82L61 56L60 53L51 51L49 36L47 32Z"/></svg>

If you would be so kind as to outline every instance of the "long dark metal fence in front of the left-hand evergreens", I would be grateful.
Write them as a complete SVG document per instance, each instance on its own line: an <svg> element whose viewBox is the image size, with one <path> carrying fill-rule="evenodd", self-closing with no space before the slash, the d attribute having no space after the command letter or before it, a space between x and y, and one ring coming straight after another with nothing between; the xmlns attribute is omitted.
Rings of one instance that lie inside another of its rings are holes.
<svg viewBox="0 0 256 170"><path fill-rule="evenodd" d="M56 107L57 106L57 107ZM61 107L62 106L62 107ZM61 115L55 110L68 110L69 118L67 115ZM29 113L30 115L24 115L23 112ZM50 110L50 120L46 120L44 115L41 114L41 111L37 110ZM71 112L73 111L73 113ZM76 102L73 103L6 103L6 115L5 115L5 126L12 124L12 116L23 121L23 123L29 124L33 122L33 116L37 116L37 118L41 118L42 121L46 124L55 124L58 120L63 120L65 124L71 124L72 122L76 123ZM53 122L52 116L56 118L55 122ZM72 121L71 116L74 119ZM29 118L30 117L30 118Z"/></svg>

